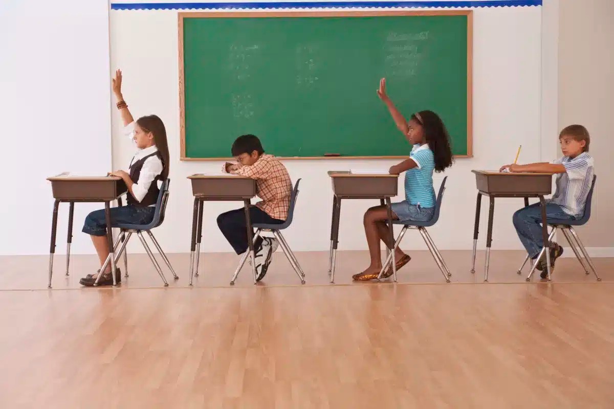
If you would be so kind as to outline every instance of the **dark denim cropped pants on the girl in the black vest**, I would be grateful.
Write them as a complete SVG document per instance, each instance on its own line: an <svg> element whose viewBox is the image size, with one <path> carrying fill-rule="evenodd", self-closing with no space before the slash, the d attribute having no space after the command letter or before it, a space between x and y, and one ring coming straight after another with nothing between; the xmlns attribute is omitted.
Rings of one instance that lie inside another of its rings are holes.
<svg viewBox="0 0 614 409"><path fill-rule="evenodd" d="M117 224L149 224L153 220L155 213L154 206L139 207L139 206L122 206L112 207L111 209L111 227L117 227ZM104 218L104 209L95 210L85 218L85 224L82 232L90 235L106 235L107 222Z"/></svg>

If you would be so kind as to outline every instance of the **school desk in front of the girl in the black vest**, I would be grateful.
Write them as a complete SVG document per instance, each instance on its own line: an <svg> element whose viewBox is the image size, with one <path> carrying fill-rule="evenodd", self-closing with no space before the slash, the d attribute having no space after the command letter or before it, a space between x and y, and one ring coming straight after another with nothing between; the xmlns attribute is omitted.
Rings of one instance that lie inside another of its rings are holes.
<svg viewBox="0 0 614 409"><path fill-rule="evenodd" d="M58 207L61 202L69 203L68 210L68 238L66 239L66 275L71 256L72 243L72 216L74 214L75 203L104 202L104 216L107 226L111 226L111 202L117 200L119 206L122 205L122 194L128 191L122 178L116 176L105 177L74 177L68 173L47 178L51 182L51 189L55 202L53 204L53 219L51 224L51 244L49 247L49 286L51 288L51 277L53 274L53 254L55 253L55 234L58 227ZM107 241L111 250L111 269L113 271L113 285L115 282L115 250L113 248L113 232L107 228Z"/></svg>

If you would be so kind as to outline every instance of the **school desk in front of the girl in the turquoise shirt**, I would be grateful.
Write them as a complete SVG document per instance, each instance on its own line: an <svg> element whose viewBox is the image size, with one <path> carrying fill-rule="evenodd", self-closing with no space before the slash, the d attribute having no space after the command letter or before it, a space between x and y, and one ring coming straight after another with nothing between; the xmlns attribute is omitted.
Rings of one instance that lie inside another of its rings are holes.
<svg viewBox="0 0 614 409"><path fill-rule="evenodd" d="M335 264L337 245L339 242L339 220L341 215L341 199L379 199L381 205L388 210L388 226L392 226L391 197L397 196L398 175L363 175L350 172L328 172L333 184L333 214L330 222L330 251L328 253L328 272L330 283L335 283ZM390 230L389 248L394 248L394 232ZM397 280L397 268L392 254L392 271Z"/></svg>

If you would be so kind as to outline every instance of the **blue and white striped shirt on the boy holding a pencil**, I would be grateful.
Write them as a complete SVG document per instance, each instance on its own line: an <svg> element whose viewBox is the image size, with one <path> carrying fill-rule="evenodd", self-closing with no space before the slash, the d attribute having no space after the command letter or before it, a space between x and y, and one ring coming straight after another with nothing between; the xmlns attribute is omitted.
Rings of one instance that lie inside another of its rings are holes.
<svg viewBox="0 0 614 409"><path fill-rule="evenodd" d="M550 202L561 206L568 215L581 217L594 175L594 159L586 152L575 158L563 156L552 161L565 167L564 174L556 175L556 191Z"/></svg>

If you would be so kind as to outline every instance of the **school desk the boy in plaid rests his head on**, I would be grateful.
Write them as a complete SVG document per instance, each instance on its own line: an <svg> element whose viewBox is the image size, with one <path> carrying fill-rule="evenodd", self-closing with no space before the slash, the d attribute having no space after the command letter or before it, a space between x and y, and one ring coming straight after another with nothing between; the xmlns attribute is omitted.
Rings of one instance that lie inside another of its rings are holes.
<svg viewBox="0 0 614 409"><path fill-rule="evenodd" d="M252 258L252 273L254 284L256 283L256 267L254 262L254 229L249 217L251 199L256 196L256 181L252 178L236 175L206 175L196 174L188 176L192 181L192 194L194 195L194 207L192 212L192 244L190 245L190 285L196 270L198 275L198 262L200 259L200 243L203 232L203 204L204 202L230 202L242 201L245 208L247 221L247 243ZM194 258L196 251L196 259ZM235 284L239 271L230 285Z"/></svg>

